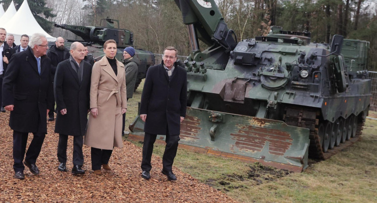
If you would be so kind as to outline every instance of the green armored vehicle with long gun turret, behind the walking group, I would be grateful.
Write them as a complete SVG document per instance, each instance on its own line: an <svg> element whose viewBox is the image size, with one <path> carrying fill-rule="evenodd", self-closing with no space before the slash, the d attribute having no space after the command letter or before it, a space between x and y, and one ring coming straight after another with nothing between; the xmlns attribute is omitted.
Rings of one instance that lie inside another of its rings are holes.
<svg viewBox="0 0 377 203"><path fill-rule="evenodd" d="M115 28L114 22L117 22L118 28ZM101 26L104 24L104 26ZM94 61L99 61L105 54L103 53L103 43L107 40L115 40L117 42L118 61L123 61L123 49L127 46L133 46L133 33L126 29L119 29L119 21L110 18L101 19L99 27L95 26L77 26L67 24L54 24L55 27L60 27L71 31L73 34L81 37L80 41L87 45L89 57L93 57ZM74 42L68 40L68 42ZM66 43L66 46L71 46L71 43ZM68 47L69 49L69 47ZM146 71L149 66L155 64L154 54L150 51L142 49L135 49L135 53L140 59L141 63L138 67L138 77L135 84L135 90L138 88L142 79L146 76Z"/></svg>

